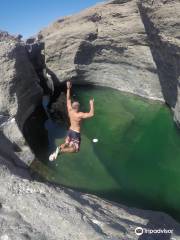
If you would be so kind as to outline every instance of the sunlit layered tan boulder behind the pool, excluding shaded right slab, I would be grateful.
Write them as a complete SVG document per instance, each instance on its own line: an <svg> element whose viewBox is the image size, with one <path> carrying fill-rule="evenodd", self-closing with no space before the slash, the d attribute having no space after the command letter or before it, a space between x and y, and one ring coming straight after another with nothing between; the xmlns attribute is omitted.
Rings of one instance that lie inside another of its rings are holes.
<svg viewBox="0 0 180 240"><path fill-rule="evenodd" d="M163 101L137 1L111 1L59 19L40 34L56 80L74 79Z"/></svg>

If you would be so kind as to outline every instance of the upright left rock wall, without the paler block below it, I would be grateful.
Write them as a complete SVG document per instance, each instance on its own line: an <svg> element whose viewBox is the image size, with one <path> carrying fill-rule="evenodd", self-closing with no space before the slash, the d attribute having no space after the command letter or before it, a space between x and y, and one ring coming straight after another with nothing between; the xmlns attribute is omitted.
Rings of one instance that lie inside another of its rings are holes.
<svg viewBox="0 0 180 240"><path fill-rule="evenodd" d="M24 44L10 36L0 38L0 112L16 117L20 127L41 102L38 82Z"/></svg>

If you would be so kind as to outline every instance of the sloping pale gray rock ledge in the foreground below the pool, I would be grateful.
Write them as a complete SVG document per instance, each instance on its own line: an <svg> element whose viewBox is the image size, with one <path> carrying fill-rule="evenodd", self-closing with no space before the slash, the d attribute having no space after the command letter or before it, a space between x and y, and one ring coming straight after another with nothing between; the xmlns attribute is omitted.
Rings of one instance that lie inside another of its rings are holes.
<svg viewBox="0 0 180 240"><path fill-rule="evenodd" d="M0 158L0 162L2 159ZM127 208L91 195L12 175L0 168L0 239L136 240L136 227L173 229L152 240L179 239L180 225L163 213Z"/></svg>

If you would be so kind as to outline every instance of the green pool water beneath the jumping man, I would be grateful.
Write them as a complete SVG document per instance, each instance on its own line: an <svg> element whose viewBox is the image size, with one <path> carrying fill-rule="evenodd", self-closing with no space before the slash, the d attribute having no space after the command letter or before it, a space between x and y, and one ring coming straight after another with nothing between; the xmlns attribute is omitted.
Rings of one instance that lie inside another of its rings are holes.
<svg viewBox="0 0 180 240"><path fill-rule="evenodd" d="M75 94L82 111L94 97L95 117L82 125L79 153L60 155L53 163L43 159L47 179L180 219L180 134L169 109L102 87L78 87ZM66 128L50 119L45 126L51 153Z"/></svg>

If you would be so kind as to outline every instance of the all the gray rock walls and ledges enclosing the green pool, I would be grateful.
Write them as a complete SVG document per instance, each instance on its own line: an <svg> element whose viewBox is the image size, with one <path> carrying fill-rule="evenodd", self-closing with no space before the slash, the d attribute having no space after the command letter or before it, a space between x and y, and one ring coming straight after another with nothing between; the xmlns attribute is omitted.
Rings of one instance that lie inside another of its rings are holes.
<svg viewBox="0 0 180 240"><path fill-rule="evenodd" d="M44 92L68 79L166 102L179 123L179 15L178 0L114 0L59 19L38 34L45 74L21 39L0 32L0 239L180 238L179 223L165 213L33 178L28 166L36 156L23 135ZM136 227L174 232L139 237Z"/></svg>

